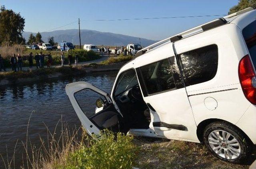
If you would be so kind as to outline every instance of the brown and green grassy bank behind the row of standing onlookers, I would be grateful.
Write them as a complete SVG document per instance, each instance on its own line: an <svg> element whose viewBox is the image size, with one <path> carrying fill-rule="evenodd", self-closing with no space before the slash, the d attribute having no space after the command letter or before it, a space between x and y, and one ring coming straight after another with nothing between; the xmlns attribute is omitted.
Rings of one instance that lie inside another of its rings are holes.
<svg viewBox="0 0 256 169"><path fill-rule="evenodd" d="M41 52L41 50L28 49L23 45L14 45L12 47L1 47L0 48L0 54L4 58L5 67L10 67L10 57L12 56L12 53L14 53L16 55L18 55L18 53L20 53L20 55L24 58L23 67L28 67L29 63L28 63L28 60L26 60L26 56L28 56L30 54L30 52L32 52L33 56L34 56L34 55L36 55L36 53L39 54ZM44 50L42 50L42 53L44 55L48 55L49 52L52 55L52 65L60 65L61 64L60 55L62 54L62 52L61 51L44 51ZM72 62L74 62L75 54L78 54L78 60L80 62L92 61L92 60L100 58L100 55L98 53L95 53L94 51L85 51L83 49L74 49L74 50L70 50L68 52L64 52L66 63L68 63L68 53L70 53L73 56ZM44 61L45 61L45 65L46 65L47 64L46 57L45 57ZM36 66L35 60L33 60L33 65Z"/></svg>

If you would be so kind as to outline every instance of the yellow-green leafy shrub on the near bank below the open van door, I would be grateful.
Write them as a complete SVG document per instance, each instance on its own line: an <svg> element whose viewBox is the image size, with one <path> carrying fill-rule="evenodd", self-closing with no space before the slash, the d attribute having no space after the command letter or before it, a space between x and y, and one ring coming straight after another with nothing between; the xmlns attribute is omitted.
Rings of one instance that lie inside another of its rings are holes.
<svg viewBox="0 0 256 169"><path fill-rule="evenodd" d="M94 136L94 140L87 138L90 146L82 146L74 153L70 153L65 166L56 168L66 169L130 169L136 157L136 146L133 138L104 130L101 137Z"/></svg>

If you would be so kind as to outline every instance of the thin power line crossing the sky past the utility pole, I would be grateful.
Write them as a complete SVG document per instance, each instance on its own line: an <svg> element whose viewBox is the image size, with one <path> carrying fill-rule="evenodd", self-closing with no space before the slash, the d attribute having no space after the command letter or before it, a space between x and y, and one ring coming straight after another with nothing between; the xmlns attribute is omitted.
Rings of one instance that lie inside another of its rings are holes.
<svg viewBox="0 0 256 169"><path fill-rule="evenodd" d="M170 19L170 18L202 18L202 17L213 17L213 16L226 16L226 15L198 15L198 16L170 16L170 17L158 17L158 18L124 18L124 19L106 19L106 20L80 20L80 22L85 22L85 21L127 21L127 20L156 20L156 19ZM64 26L68 26L74 23L78 23L77 21L75 22L70 22L68 24L65 24L63 26L59 26L57 28L52 28L47 31L52 31L58 28L62 28ZM47 32L46 31L46 32Z"/></svg>

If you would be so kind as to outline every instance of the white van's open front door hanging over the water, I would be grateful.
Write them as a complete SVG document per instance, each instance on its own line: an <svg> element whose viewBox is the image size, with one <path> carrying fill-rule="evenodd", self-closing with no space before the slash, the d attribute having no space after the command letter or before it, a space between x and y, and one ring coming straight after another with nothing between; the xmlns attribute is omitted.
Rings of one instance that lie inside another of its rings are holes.
<svg viewBox="0 0 256 169"><path fill-rule="evenodd" d="M74 82L66 85L66 93L70 102L82 123L86 132L90 135L99 134L100 130L111 129L119 130L119 113L114 108L108 94L99 88L86 82ZM86 93L86 94L85 94ZM89 94L90 93L90 94ZM92 95L100 95L100 99L92 100ZM95 110L95 101L98 109ZM94 103L94 104L93 104ZM84 109L83 106L86 108ZM93 112L89 111L91 108Z"/></svg>

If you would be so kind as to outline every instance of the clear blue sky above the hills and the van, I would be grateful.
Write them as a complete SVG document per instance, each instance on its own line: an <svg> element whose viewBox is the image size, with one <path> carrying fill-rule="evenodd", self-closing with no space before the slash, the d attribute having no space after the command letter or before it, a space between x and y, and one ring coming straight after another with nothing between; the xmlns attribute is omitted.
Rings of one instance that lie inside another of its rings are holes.
<svg viewBox="0 0 256 169"><path fill-rule="evenodd" d="M81 20L227 14L238 0L1 0L25 18L25 31L48 31ZM81 29L160 40L216 17L83 21ZM218 18L218 17L217 17ZM59 29L77 29L71 24Z"/></svg>

